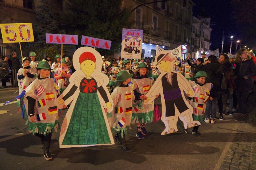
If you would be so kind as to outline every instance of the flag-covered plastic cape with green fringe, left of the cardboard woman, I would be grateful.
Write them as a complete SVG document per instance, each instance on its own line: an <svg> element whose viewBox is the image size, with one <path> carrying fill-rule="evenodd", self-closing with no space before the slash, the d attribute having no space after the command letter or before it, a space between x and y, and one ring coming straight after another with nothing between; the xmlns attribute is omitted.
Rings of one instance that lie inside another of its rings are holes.
<svg viewBox="0 0 256 170"><path fill-rule="evenodd" d="M34 116L36 122L30 122L29 119L26 125L29 125L28 130L32 131L33 134L44 134L52 132L53 129L57 132L59 129L58 122L58 109L57 109L57 95L56 91L57 85L54 83L53 79L40 79L35 80L29 85L26 90L16 98L20 98L19 107L22 111L22 117L28 119L28 96L35 100L35 110ZM51 100L47 100L47 94L51 97Z"/></svg>

